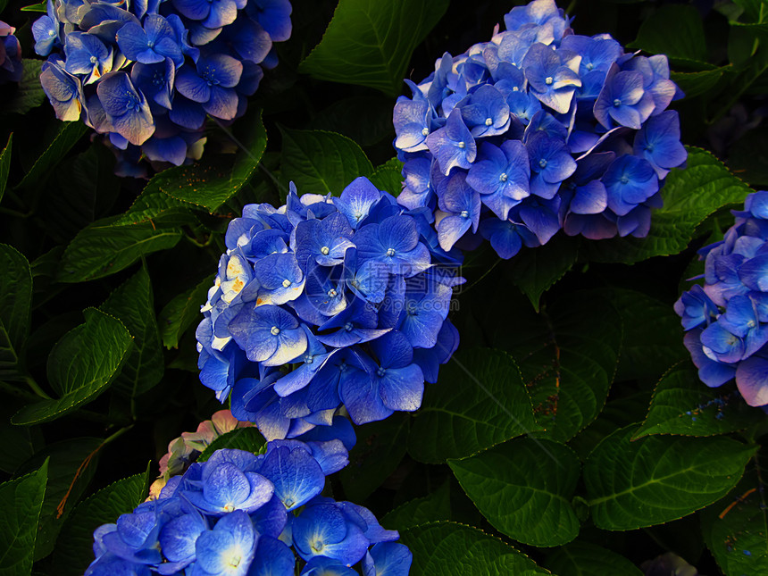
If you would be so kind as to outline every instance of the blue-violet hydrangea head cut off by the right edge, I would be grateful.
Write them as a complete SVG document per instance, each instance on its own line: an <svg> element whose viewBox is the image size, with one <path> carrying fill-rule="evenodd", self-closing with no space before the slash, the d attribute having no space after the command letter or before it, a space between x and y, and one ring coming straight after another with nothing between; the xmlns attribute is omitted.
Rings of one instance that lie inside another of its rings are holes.
<svg viewBox="0 0 768 576"><path fill-rule="evenodd" d="M748 405L768 408L768 192L747 196L725 238L699 250L704 288L675 303L699 378L718 387L736 378Z"/></svg>

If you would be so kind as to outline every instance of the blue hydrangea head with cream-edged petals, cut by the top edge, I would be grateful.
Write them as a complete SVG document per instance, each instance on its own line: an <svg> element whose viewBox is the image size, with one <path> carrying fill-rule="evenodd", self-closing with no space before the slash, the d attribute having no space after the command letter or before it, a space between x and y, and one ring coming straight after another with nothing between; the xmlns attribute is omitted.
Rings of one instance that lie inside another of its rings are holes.
<svg viewBox="0 0 768 576"><path fill-rule="evenodd" d="M206 114L245 113L290 13L288 0L48 0L32 25L51 54L40 81L59 119L108 134L126 161L179 165L202 154Z"/></svg>

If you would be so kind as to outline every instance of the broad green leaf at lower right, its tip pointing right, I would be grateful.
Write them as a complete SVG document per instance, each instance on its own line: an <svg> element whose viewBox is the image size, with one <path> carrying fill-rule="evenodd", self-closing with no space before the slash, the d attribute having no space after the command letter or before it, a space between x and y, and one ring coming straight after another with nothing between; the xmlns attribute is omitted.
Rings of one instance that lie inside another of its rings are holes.
<svg viewBox="0 0 768 576"><path fill-rule="evenodd" d="M647 436L616 430L587 458L584 484L597 528L634 530L677 520L725 496L756 447L730 438Z"/></svg>

